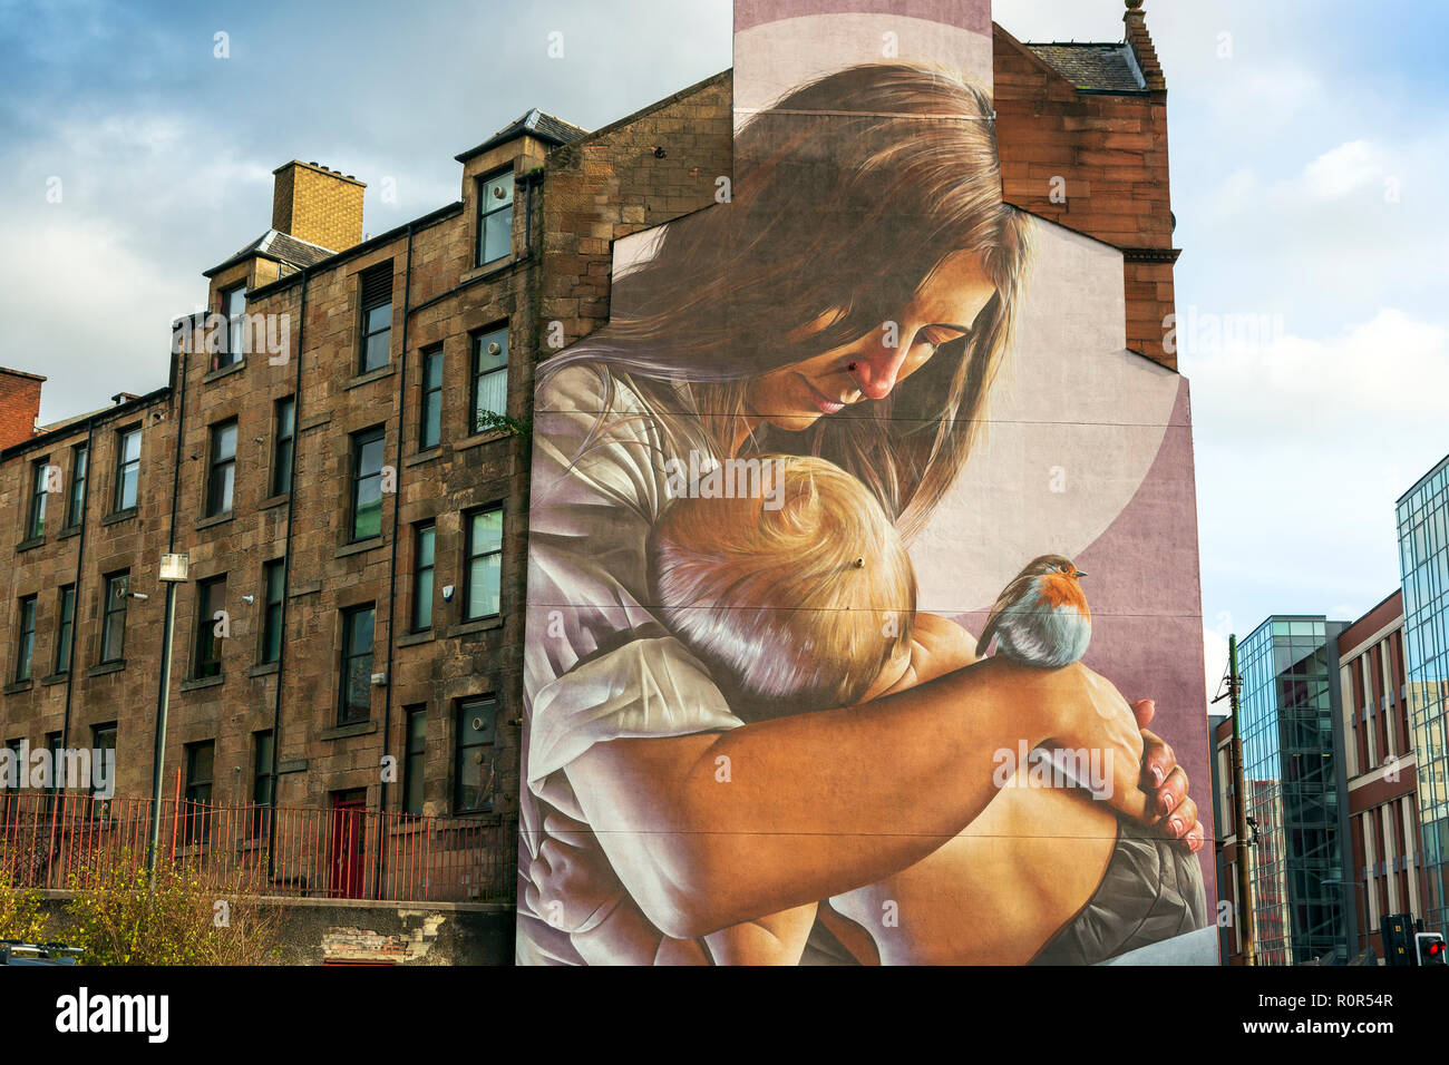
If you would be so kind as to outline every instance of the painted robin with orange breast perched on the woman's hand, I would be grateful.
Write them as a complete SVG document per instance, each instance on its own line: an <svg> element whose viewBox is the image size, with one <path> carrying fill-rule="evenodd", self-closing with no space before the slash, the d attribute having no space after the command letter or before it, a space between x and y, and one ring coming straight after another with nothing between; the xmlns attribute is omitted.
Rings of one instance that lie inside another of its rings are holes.
<svg viewBox="0 0 1449 1065"><path fill-rule="evenodd" d="M1059 669L1080 659L1091 642L1085 575L1061 555L1032 559L997 597L977 655L984 658L994 638L998 653L1022 665Z"/></svg>

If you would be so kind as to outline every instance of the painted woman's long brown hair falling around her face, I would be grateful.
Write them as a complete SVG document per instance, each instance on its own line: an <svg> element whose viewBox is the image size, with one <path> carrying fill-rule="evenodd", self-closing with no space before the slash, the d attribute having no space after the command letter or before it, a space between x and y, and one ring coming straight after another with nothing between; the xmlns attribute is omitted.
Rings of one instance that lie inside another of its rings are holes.
<svg viewBox="0 0 1449 1065"><path fill-rule="evenodd" d="M1001 201L984 93L911 64L842 70L740 130L733 203L671 223L655 256L617 280L610 325L545 362L540 380L580 362L623 374L678 439L729 455L751 378L881 329L948 255L972 252L997 293L968 336L884 400L804 433L753 433L755 449L851 471L910 538L980 438L1029 232Z"/></svg>

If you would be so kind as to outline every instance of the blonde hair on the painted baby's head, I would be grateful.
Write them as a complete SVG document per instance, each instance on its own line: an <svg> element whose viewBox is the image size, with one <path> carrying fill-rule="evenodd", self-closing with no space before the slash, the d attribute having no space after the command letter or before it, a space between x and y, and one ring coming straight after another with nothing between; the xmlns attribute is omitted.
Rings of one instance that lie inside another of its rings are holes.
<svg viewBox="0 0 1449 1065"><path fill-rule="evenodd" d="M745 693L793 709L851 706L910 639L906 545L839 467L798 455L761 455L759 467L758 496L665 507L648 548L653 601Z"/></svg>

